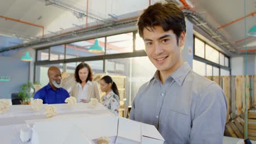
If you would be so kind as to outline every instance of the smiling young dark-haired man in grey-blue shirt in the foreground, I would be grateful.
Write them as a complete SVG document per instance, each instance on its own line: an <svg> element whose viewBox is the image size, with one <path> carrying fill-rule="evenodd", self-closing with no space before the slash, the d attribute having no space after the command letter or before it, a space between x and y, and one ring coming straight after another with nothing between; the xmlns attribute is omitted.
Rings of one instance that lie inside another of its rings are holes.
<svg viewBox="0 0 256 144"><path fill-rule="evenodd" d="M173 3L155 3L144 10L137 25L148 58L158 70L139 88L130 118L155 125L165 144L223 143L225 95L182 61L183 11Z"/></svg>

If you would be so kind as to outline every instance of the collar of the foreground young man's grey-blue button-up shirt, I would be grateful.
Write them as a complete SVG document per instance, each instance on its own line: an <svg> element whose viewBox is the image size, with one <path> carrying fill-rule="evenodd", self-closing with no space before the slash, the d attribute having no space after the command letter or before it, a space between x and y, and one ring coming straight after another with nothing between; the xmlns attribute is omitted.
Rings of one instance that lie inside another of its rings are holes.
<svg viewBox="0 0 256 144"><path fill-rule="evenodd" d="M173 79L174 81L176 81L178 83L179 86L181 86L185 77L188 75L190 70L191 70L191 68L190 68L189 64L187 62L185 62L183 65L181 65L181 67L179 67L177 70L175 70L172 75L168 76L166 81ZM155 74L152 77L152 79L149 80L149 83L152 82L153 80L158 80L159 82L161 82L159 79L159 70L155 71Z"/></svg>

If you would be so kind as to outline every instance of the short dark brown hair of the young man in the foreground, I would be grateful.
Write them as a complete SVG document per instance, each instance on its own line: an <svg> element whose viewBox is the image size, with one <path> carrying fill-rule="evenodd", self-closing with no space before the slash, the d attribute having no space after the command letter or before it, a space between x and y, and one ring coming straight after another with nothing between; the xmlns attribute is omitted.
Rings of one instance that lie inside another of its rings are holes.
<svg viewBox="0 0 256 144"><path fill-rule="evenodd" d="M137 22L139 36L143 37L144 28L153 31L154 26L161 26L165 32L172 30L177 37L186 32L185 16L181 9L174 3L155 3L150 5Z"/></svg>

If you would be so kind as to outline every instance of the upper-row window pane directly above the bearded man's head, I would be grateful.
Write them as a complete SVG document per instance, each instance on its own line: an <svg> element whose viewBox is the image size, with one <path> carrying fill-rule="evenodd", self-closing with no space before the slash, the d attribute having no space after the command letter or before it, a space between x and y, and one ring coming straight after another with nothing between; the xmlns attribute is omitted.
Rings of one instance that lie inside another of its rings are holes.
<svg viewBox="0 0 256 144"><path fill-rule="evenodd" d="M64 59L65 45L50 47L50 61Z"/></svg>

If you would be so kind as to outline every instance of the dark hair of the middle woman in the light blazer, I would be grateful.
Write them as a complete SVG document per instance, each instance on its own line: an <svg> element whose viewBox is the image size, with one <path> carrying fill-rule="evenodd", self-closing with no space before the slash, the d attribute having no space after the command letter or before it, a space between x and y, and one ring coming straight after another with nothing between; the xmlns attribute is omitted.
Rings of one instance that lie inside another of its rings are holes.
<svg viewBox="0 0 256 144"><path fill-rule="evenodd" d="M83 68L87 68L87 69L88 69L88 77L87 77L87 79L86 79L86 82L92 81L92 70L91 70L91 67L90 67L90 65L88 65L87 63L84 63L84 62L78 64L78 65L77 65L77 68L75 68L75 74L74 74L74 76L75 76L75 81L76 81L76 82L79 82L79 83L82 83L82 81L81 81L80 78L79 78L79 73L78 73L78 71L79 71L80 69L83 69Z"/></svg>

